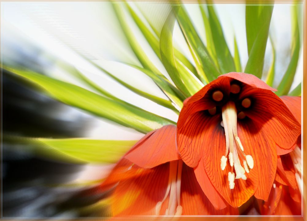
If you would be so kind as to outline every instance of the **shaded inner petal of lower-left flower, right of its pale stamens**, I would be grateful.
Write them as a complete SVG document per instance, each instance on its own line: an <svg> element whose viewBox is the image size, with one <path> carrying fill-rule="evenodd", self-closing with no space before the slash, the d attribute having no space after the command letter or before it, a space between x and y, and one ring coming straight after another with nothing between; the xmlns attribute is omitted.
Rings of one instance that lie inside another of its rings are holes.
<svg viewBox="0 0 307 221"><path fill-rule="evenodd" d="M238 215L238 210L229 205L216 210L202 191L193 168L183 165L181 176L182 215Z"/></svg>

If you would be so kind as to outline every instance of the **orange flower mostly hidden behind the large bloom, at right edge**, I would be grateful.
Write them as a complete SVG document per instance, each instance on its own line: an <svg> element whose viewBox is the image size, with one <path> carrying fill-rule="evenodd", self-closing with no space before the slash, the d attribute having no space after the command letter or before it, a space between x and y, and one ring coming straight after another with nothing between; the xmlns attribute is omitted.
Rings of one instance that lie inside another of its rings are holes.
<svg viewBox="0 0 307 221"><path fill-rule="evenodd" d="M301 97L282 96L297 121L301 123ZM261 215L301 215L301 136L294 150L278 156L277 171L267 202L258 200Z"/></svg>

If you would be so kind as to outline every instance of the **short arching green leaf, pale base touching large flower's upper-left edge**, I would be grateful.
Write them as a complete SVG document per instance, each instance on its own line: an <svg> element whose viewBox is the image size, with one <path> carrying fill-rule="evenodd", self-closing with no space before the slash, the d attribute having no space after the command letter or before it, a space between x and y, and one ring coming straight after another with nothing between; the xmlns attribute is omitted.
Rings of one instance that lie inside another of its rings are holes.
<svg viewBox="0 0 307 221"><path fill-rule="evenodd" d="M126 64L126 65L138 69L139 71L142 71L148 77L150 77L156 83L156 85L163 91L163 93L165 93L165 95L169 97L171 101L173 101L176 109L181 110L183 106L182 101L185 99L185 97L180 93L180 91L177 88L175 88L172 84L170 84L170 82L166 78L161 77L159 75L155 75L152 71L147 70L145 68L141 68L136 65L132 64Z"/></svg>

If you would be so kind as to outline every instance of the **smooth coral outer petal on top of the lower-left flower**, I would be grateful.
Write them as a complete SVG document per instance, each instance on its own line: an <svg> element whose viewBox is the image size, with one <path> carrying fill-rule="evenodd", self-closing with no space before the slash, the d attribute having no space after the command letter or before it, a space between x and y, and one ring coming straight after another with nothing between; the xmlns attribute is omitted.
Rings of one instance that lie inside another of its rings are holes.
<svg viewBox="0 0 307 221"><path fill-rule="evenodd" d="M142 168L153 168L172 160L179 160L176 126L166 125L150 132L132 147L125 158Z"/></svg>

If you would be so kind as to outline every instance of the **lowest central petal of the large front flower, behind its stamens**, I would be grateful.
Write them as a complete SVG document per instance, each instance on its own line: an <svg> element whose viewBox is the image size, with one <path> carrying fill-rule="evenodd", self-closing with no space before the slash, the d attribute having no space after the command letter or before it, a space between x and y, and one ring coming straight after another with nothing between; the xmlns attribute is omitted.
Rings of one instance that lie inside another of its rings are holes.
<svg viewBox="0 0 307 221"><path fill-rule="evenodd" d="M204 168L212 185L227 203L233 207L239 207L255 193L258 187L258 165L254 165L250 173L246 174L247 180L235 179L235 187L230 189L228 181L228 172L231 171L230 164L227 163L224 170L220 168L220 159L221 156L225 155L226 147L224 129L220 125L219 117L214 116L211 119L214 120L207 124L206 136L204 137L204 144L206 144L203 151ZM251 141L252 137L248 139L249 142L254 141ZM258 141L254 142L257 143ZM253 147L254 145L244 147L244 152L254 156Z"/></svg>

